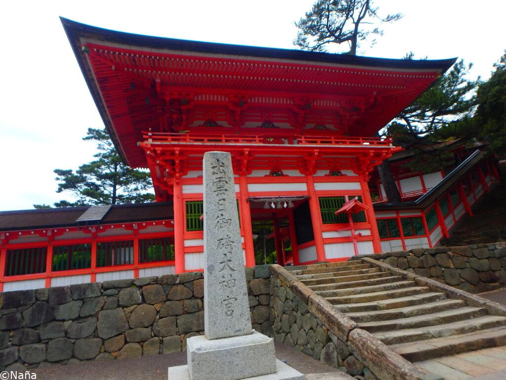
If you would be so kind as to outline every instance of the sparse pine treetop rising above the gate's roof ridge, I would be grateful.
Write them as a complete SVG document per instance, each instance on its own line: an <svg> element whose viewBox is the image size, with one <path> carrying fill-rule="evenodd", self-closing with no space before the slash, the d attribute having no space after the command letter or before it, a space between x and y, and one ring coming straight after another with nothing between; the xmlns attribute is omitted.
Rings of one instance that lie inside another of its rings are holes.
<svg viewBox="0 0 506 380"><path fill-rule="evenodd" d="M383 35L374 23L402 18L399 13L380 17L372 3L373 0L317 0L311 11L295 23L299 32L293 44L303 50L325 51L327 44L347 43L348 54L356 55L359 41L371 34Z"/></svg>

